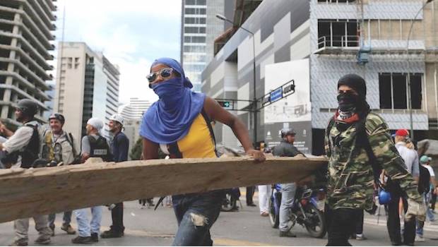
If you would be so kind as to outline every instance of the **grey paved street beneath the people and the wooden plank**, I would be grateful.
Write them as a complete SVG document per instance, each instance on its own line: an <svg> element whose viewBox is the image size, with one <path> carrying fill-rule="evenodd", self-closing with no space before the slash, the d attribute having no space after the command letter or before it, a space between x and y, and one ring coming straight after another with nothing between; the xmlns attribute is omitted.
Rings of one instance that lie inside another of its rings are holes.
<svg viewBox="0 0 438 247"><path fill-rule="evenodd" d="M244 191L244 190L243 190ZM297 238L280 238L278 229L271 228L268 218L259 216L258 207L247 207L244 195L241 197L243 208L239 212L221 212L218 221L212 229L215 245L218 246L325 246L326 238L313 239L302 227L295 226ZM254 195L256 199L256 195ZM157 199L155 198L155 201ZM255 203L258 203L255 200ZM383 210L382 210L383 212ZM158 207L154 212L152 208L141 209L138 202L125 203L124 211L125 236L121 239L100 239L95 246L168 246L172 244L173 234L177 229L174 214L169 207ZM69 236L59 229L62 215L57 215L56 236L52 245L71 246ZM357 246L387 246L389 239L386 234L386 219L381 217L377 224L377 217L365 216L366 241L350 241ZM109 210L104 210L102 217L102 231L111 224ZM31 220L30 244L37 237L34 224ZM76 229L76 219L73 219ZM0 246L8 245L13 239L13 222L0 224ZM438 237L438 224L426 224L425 237L427 241L417 243L418 246L437 246L438 241L430 238Z"/></svg>

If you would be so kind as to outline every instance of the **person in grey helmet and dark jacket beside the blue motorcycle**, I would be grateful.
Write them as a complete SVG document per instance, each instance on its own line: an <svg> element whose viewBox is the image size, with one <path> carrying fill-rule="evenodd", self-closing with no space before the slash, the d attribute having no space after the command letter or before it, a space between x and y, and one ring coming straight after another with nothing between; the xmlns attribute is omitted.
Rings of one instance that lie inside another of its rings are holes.
<svg viewBox="0 0 438 247"><path fill-rule="evenodd" d="M292 128L283 128L281 131L281 138L276 147L273 148L272 154L280 157L295 157L297 155L303 155L298 151L297 147L293 145L295 142L295 131ZM295 200L295 192L297 191L296 183L282 183L281 184L281 203L278 219L280 221L278 229L280 230L280 237L296 237L297 235L292 233L288 229L288 222L290 221L290 210L292 209L293 202Z"/></svg>

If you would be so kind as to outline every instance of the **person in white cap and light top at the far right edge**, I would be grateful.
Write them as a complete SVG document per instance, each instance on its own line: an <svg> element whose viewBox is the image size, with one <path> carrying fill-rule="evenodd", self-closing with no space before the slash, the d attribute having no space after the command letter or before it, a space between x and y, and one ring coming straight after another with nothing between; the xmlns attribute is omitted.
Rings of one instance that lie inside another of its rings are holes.
<svg viewBox="0 0 438 247"><path fill-rule="evenodd" d="M430 175L430 186L433 189L427 190L427 192L423 192L423 198L425 200L425 204L429 205L430 199L432 198L432 193L437 193L437 182L435 181L435 172L434 169L430 166L430 161L432 158L428 157L427 155L422 155L420 158L420 165L422 167L425 167ZM432 187L433 186L433 187ZM435 216L430 209L430 207L427 207L427 218L431 222L435 221ZM423 228L425 227L425 221L421 221L420 219L417 220L417 236L415 237L415 241L423 242L425 239L423 238Z"/></svg>

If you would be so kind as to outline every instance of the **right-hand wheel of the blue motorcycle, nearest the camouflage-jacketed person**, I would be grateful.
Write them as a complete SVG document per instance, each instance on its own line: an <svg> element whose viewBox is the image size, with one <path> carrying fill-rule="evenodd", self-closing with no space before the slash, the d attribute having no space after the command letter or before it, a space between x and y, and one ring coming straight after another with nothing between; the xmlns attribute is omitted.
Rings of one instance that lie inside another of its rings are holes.
<svg viewBox="0 0 438 247"><path fill-rule="evenodd" d="M307 231L309 231L310 236L317 239L324 238L327 229L323 212L319 211L311 203L304 208L304 212L306 212L306 217L309 219L309 222L304 221L304 225Z"/></svg>

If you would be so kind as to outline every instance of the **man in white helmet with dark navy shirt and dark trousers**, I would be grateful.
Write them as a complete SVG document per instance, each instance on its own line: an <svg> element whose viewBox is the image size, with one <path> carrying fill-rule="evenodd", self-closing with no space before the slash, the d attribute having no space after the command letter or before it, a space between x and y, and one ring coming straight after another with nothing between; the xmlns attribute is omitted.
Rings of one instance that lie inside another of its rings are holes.
<svg viewBox="0 0 438 247"><path fill-rule="evenodd" d="M109 118L109 133L112 134L111 150L114 162L124 162L128 160L129 140L122 132L124 124L123 116L114 114ZM104 231L100 236L103 239L119 238L124 235L123 226L123 203L115 203L111 210L112 226L108 231Z"/></svg>

